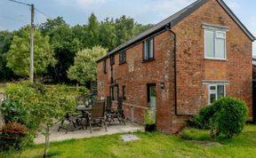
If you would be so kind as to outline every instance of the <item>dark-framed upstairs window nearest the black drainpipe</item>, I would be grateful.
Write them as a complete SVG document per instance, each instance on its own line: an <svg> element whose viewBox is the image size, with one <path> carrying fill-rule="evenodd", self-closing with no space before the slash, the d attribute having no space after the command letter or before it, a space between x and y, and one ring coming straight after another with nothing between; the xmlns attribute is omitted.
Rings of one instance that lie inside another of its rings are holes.
<svg viewBox="0 0 256 158"><path fill-rule="evenodd" d="M154 38L144 41L143 60L154 59Z"/></svg>

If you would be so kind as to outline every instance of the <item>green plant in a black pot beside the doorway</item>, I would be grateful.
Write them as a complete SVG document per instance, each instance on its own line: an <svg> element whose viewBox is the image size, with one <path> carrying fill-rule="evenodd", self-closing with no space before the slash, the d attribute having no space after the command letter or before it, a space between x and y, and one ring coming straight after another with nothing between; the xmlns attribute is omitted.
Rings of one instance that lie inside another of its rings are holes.
<svg viewBox="0 0 256 158"><path fill-rule="evenodd" d="M154 110L152 108L148 108L144 115L145 122L145 131L155 131L156 130L156 119L154 115Z"/></svg>

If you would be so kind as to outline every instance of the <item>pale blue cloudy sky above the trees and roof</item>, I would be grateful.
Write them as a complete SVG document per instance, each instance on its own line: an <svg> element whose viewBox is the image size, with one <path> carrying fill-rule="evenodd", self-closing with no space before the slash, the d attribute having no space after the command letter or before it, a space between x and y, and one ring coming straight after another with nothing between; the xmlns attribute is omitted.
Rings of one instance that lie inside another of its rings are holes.
<svg viewBox="0 0 256 158"><path fill-rule="evenodd" d="M20 0L35 4L36 24L47 18L61 16L74 26L86 24L92 12L98 20L119 18L122 15L133 18L141 24L156 24L178 12L196 0ZM255 0L224 0L244 26L256 36ZM43 13L41 13L43 12ZM29 24L28 6L0 0L0 30L14 30ZM256 56L256 42L253 43L253 54Z"/></svg>

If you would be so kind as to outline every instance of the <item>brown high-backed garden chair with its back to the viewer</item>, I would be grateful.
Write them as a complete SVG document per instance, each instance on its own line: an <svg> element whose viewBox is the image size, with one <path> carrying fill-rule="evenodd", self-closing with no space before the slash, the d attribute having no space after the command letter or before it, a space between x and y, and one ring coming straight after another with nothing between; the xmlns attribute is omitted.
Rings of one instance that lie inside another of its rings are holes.
<svg viewBox="0 0 256 158"><path fill-rule="evenodd" d="M92 133L92 122L101 127L101 123L104 123L105 130L107 131L107 123L105 122L105 101L96 101L92 106L92 112L88 114L88 120L90 132ZM87 126L88 123L86 123ZM87 128L87 127L86 127Z"/></svg>

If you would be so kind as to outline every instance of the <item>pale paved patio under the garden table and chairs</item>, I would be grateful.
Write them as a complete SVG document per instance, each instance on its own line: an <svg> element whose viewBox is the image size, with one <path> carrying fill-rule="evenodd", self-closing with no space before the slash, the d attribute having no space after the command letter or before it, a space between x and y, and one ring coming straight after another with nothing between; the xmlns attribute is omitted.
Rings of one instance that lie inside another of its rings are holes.
<svg viewBox="0 0 256 158"><path fill-rule="evenodd" d="M73 138L92 138L92 137L99 137L104 135L112 135L116 133L127 133L127 132L136 132L136 131L144 131L144 127L132 123L132 122L126 122L126 125L123 124L111 124L108 126L108 131L105 131L104 128L92 128L92 133L90 133L90 130L74 130L74 131L68 131L66 134L66 130L60 130L58 131L60 124L56 124L52 127L50 130L50 142L54 141L62 141L62 140L68 140ZM42 144L44 143L44 135L39 134L34 142L35 144Z"/></svg>

